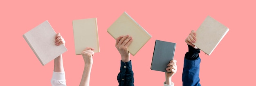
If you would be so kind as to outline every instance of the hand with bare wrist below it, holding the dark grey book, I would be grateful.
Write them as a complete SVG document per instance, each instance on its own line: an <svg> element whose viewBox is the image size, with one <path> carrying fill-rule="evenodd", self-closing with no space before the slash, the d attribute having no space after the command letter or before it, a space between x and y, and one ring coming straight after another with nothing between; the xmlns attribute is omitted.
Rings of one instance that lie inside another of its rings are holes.
<svg viewBox="0 0 256 86"><path fill-rule="evenodd" d="M169 64L167 64L166 73L165 73L165 84L171 84L172 76L177 72L176 60L171 60Z"/></svg>

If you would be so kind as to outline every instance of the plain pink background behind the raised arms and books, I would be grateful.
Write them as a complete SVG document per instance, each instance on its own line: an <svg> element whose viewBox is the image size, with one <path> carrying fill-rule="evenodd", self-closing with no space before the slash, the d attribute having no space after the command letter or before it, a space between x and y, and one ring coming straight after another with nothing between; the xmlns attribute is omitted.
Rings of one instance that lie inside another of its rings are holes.
<svg viewBox="0 0 256 86"><path fill-rule="evenodd" d="M182 86L187 46L184 39L207 15L230 31L211 56L200 53L200 83L203 86L252 86L255 84L256 2L254 0L1 0L0 86L50 86L54 61L42 66L22 35L48 20L65 38L63 54L68 86L78 86L83 58L75 55L72 20L97 18L100 53L92 67L91 86L117 86L121 57L108 27L126 11L152 38L133 57L136 86L163 86L163 72L150 70L155 40L177 43L178 71L175 86Z"/></svg>

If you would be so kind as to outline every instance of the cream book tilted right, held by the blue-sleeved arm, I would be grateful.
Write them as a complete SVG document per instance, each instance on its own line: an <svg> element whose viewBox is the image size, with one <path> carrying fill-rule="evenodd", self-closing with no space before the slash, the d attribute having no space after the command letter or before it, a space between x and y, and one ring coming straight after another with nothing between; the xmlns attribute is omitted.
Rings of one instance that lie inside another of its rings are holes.
<svg viewBox="0 0 256 86"><path fill-rule="evenodd" d="M211 55L228 31L226 26L207 16L196 31L196 42L193 44L207 55Z"/></svg>

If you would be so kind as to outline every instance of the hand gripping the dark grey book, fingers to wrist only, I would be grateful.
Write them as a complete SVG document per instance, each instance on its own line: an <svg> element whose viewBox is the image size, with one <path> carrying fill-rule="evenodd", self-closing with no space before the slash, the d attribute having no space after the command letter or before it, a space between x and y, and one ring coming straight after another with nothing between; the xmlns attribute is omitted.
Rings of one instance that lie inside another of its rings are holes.
<svg viewBox="0 0 256 86"><path fill-rule="evenodd" d="M176 65L177 60L171 60L169 64L167 64L166 68L166 77L171 78L176 72L177 72L177 65Z"/></svg>

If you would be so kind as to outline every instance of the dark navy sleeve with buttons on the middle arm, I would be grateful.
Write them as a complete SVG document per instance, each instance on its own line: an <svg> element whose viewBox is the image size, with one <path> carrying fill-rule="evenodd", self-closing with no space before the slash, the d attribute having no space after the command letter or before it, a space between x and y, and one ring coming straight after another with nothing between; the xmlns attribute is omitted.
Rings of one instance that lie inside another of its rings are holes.
<svg viewBox="0 0 256 86"><path fill-rule="evenodd" d="M134 78L132 71L132 61L122 62L120 72L117 75L118 86L134 86Z"/></svg>

